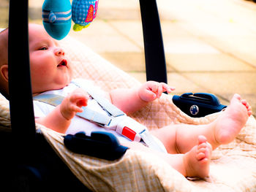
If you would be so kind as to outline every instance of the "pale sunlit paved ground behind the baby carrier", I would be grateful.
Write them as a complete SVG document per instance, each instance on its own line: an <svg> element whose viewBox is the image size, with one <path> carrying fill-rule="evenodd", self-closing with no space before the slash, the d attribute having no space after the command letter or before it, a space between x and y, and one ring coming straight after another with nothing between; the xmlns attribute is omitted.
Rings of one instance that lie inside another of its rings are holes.
<svg viewBox="0 0 256 192"><path fill-rule="evenodd" d="M33 22L41 22L42 2L29 1ZM176 86L175 94L215 93L228 104L234 93L240 93L256 115L256 4L244 0L157 0L157 4L168 83ZM91 26L69 34L138 80L146 80L138 0L100 0Z"/></svg>

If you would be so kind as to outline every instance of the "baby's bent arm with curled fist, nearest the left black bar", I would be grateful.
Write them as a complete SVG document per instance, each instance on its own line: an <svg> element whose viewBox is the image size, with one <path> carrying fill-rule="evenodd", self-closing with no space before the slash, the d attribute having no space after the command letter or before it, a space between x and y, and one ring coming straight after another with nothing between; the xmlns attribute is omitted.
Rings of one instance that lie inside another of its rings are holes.
<svg viewBox="0 0 256 192"><path fill-rule="evenodd" d="M89 96L85 91L76 89L66 96L52 112L44 118L37 118L36 122L64 134L75 114L83 112L81 107L87 105L88 99Z"/></svg>

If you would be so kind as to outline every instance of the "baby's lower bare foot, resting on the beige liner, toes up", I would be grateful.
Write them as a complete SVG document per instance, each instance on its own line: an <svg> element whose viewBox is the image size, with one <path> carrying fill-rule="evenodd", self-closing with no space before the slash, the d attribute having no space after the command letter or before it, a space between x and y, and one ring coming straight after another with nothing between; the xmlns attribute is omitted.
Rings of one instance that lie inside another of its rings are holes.
<svg viewBox="0 0 256 192"><path fill-rule="evenodd" d="M198 144L184 154L186 177L208 177L211 161L211 145L206 137L200 135Z"/></svg>

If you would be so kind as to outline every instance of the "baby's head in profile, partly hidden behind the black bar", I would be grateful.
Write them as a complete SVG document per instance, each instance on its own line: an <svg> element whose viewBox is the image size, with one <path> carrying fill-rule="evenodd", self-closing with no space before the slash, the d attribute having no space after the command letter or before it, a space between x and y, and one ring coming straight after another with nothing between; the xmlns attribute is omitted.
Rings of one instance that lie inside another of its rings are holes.
<svg viewBox="0 0 256 192"><path fill-rule="evenodd" d="M0 33L0 86L8 96L8 29ZM64 50L40 25L29 24L29 58L32 93L64 88L72 69Z"/></svg>

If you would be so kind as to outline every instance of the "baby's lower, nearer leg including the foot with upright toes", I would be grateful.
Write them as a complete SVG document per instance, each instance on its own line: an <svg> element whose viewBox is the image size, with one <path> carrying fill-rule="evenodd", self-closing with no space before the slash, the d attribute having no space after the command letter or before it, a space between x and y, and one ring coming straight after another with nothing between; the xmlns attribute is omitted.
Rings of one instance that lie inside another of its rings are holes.
<svg viewBox="0 0 256 192"><path fill-rule="evenodd" d="M192 147L185 154L167 154L156 150L151 150L138 142L125 143L132 150L143 150L148 153L154 153L159 158L167 161L173 169L183 174L185 177L207 177L209 172L209 163L211 160L211 145L206 141L206 137L199 136L197 145Z"/></svg>

